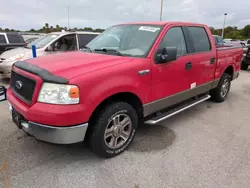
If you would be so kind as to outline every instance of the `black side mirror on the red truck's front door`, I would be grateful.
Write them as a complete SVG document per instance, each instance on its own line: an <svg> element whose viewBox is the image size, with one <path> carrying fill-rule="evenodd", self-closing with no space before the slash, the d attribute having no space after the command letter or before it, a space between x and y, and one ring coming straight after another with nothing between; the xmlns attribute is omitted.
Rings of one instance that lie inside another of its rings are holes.
<svg viewBox="0 0 250 188"><path fill-rule="evenodd" d="M177 59L177 48L165 47L165 48L159 49L157 51L155 59L158 64L175 61Z"/></svg>

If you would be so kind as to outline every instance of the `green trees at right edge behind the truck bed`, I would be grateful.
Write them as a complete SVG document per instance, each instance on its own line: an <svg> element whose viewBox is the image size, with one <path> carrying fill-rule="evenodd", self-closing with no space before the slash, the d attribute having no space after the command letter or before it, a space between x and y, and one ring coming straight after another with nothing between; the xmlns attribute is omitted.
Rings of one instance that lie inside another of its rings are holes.
<svg viewBox="0 0 250 188"><path fill-rule="evenodd" d="M215 29L210 27L213 35L221 35L222 29ZM224 30L224 38L230 39L249 39L250 38L250 25L245 26L243 29L238 29L236 26L228 26Z"/></svg>

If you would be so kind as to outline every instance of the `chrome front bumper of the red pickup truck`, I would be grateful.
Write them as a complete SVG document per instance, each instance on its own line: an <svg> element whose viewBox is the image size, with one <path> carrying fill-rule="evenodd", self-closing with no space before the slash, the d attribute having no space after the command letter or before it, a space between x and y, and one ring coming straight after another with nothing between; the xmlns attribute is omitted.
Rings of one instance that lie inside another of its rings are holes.
<svg viewBox="0 0 250 188"><path fill-rule="evenodd" d="M72 127L52 127L34 122L22 122L21 129L37 140L54 144L73 144L84 140L88 123Z"/></svg>

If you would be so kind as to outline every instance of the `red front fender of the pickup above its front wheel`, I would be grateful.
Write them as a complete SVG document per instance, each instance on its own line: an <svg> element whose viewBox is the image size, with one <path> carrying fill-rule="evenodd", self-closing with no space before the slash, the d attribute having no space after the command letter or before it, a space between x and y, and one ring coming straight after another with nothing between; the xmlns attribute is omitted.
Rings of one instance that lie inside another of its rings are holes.
<svg viewBox="0 0 250 188"><path fill-rule="evenodd" d="M94 110L105 99L118 93L136 95L142 104L150 99L151 75L138 75L139 70L149 69L149 61L138 59L133 63L119 64L70 80L80 88L80 105L84 109L83 122L89 121ZM84 80L84 82L83 82Z"/></svg>

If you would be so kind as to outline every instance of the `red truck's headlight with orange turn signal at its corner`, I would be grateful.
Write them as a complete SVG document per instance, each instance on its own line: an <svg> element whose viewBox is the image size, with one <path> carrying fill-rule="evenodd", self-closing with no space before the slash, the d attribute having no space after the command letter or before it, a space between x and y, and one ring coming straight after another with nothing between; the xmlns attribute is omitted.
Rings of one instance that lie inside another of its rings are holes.
<svg viewBox="0 0 250 188"><path fill-rule="evenodd" d="M78 104L79 88L75 85L44 83L38 101L50 104Z"/></svg>

